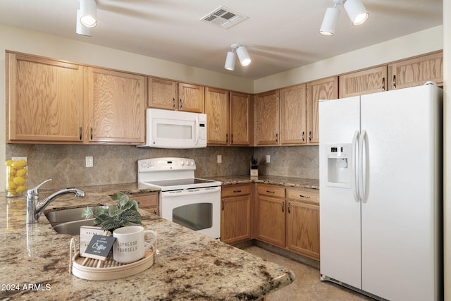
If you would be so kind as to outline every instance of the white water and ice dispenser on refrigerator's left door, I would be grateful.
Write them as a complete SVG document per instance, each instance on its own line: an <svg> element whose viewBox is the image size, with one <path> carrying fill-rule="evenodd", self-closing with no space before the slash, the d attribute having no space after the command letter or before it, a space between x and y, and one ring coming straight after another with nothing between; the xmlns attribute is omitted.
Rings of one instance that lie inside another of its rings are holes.
<svg viewBox="0 0 451 301"><path fill-rule="evenodd" d="M352 144L327 145L327 185L352 188Z"/></svg>

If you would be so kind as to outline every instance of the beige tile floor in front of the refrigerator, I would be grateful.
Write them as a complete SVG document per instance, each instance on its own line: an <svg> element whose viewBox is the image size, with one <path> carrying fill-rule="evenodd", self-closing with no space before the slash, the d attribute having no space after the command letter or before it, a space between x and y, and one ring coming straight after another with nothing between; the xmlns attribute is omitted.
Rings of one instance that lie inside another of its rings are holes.
<svg viewBox="0 0 451 301"><path fill-rule="evenodd" d="M321 301L357 301L373 300L370 297L361 295L340 285L321 281L319 279L319 270L310 266L295 262L291 259L282 257L278 254L268 252L256 246L243 247L243 250L264 258L270 262L275 262L281 266L291 269L295 275L295 281L290 285L277 290L276 292L264 298L265 301L301 301L301 300L321 300Z"/></svg>

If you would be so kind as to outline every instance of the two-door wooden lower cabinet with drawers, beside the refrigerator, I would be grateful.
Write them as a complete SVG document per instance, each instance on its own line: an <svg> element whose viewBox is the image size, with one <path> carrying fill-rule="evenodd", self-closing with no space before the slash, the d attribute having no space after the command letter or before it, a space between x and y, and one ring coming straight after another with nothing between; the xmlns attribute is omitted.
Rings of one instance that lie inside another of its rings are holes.
<svg viewBox="0 0 451 301"><path fill-rule="evenodd" d="M256 239L319 260L319 191L257 184Z"/></svg>

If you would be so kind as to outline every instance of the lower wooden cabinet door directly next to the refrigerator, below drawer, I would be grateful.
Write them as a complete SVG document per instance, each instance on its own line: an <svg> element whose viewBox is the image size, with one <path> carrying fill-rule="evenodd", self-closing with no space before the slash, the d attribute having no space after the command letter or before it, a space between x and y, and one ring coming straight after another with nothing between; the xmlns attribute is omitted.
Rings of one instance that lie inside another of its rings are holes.
<svg viewBox="0 0 451 301"><path fill-rule="evenodd" d="M319 205L288 201L287 247L319 259Z"/></svg>

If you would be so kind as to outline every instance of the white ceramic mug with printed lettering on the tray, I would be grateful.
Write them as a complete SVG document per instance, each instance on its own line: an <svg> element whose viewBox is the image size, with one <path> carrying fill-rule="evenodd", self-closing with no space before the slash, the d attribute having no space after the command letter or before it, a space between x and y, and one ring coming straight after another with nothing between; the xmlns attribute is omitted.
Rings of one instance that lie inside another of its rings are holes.
<svg viewBox="0 0 451 301"><path fill-rule="evenodd" d="M150 242L144 241L144 235L152 235ZM142 226L125 226L113 231L116 238L113 246L113 259L122 264L130 264L144 257L144 253L156 242L156 233L144 230Z"/></svg>

